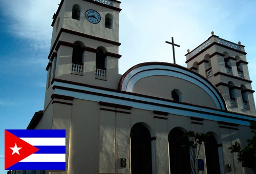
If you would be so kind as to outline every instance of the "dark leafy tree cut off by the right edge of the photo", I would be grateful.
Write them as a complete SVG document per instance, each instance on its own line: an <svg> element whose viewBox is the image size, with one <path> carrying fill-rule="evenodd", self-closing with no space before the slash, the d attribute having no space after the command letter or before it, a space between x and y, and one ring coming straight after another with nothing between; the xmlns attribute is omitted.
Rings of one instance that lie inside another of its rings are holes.
<svg viewBox="0 0 256 174"><path fill-rule="evenodd" d="M256 122L251 122L251 128L256 129ZM230 149L230 153L238 154L238 163L248 167L256 174L256 132L253 132L252 139L247 139L248 144L242 149L241 144L236 141Z"/></svg>

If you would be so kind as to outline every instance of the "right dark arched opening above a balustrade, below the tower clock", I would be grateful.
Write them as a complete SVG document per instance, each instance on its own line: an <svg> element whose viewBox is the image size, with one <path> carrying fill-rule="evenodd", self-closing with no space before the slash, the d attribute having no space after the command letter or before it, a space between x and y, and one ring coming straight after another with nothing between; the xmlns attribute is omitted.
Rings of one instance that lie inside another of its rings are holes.
<svg viewBox="0 0 256 174"><path fill-rule="evenodd" d="M96 53L96 69L106 70L106 48L98 47Z"/></svg>

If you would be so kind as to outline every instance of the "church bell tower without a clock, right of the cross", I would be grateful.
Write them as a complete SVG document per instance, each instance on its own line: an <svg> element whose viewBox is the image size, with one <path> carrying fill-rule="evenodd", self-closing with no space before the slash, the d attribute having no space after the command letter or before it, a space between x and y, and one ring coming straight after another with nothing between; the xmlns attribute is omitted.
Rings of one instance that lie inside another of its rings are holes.
<svg viewBox="0 0 256 174"><path fill-rule="evenodd" d="M187 50L187 68L207 78L222 94L228 111L255 115L254 91L245 46L214 35L196 49Z"/></svg>

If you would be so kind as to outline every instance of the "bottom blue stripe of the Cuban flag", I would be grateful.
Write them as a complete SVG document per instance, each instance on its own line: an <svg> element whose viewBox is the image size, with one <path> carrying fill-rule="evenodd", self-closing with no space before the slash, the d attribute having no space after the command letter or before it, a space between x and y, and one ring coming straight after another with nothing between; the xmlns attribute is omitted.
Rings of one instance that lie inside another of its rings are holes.
<svg viewBox="0 0 256 174"><path fill-rule="evenodd" d="M6 170L66 170L66 162L18 162Z"/></svg>

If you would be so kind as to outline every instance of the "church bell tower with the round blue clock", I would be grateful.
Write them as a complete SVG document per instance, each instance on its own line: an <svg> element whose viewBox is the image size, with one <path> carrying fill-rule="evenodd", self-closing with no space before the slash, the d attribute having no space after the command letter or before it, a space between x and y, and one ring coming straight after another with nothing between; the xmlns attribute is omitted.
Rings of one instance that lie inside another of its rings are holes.
<svg viewBox="0 0 256 174"><path fill-rule="evenodd" d="M117 89L120 3L61 0L53 15L45 107L54 81Z"/></svg>

